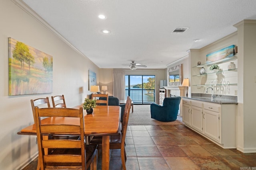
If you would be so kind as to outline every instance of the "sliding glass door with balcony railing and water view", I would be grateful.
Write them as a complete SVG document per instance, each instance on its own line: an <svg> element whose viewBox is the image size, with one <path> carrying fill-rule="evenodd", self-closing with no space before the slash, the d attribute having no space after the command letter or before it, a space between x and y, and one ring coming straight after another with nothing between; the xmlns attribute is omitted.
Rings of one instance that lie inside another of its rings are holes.
<svg viewBox="0 0 256 170"><path fill-rule="evenodd" d="M126 75L125 95L130 96L134 104L151 104L155 102L155 76Z"/></svg>

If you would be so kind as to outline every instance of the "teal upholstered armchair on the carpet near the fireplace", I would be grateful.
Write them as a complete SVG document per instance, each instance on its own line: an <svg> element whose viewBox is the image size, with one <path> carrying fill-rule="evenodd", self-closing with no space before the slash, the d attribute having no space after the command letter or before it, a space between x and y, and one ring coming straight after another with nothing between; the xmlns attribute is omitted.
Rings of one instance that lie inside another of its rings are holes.
<svg viewBox="0 0 256 170"><path fill-rule="evenodd" d="M163 106L150 105L151 118L158 121L175 121L177 119L180 97L165 98Z"/></svg>

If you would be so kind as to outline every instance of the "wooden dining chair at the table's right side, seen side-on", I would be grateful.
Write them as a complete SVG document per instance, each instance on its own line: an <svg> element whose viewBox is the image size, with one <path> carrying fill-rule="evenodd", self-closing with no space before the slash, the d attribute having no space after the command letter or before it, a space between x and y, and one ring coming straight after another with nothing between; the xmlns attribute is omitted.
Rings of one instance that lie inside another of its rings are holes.
<svg viewBox="0 0 256 170"><path fill-rule="evenodd" d="M128 126L131 104L132 104L132 100L128 96L126 100L126 106L124 109L124 117L122 122L121 133L119 135L110 136L110 149L121 149L121 159L122 159L122 166L124 170L126 170L125 137L126 137L126 130ZM102 137L94 136L90 141L90 144L97 144L98 149L102 149Z"/></svg>

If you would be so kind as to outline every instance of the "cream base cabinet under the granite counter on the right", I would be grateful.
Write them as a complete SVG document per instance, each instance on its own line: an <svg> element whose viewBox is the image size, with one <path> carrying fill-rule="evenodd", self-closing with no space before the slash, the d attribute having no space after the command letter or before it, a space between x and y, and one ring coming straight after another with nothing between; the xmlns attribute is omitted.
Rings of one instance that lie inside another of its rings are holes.
<svg viewBox="0 0 256 170"><path fill-rule="evenodd" d="M215 104L183 99L182 120L224 149L236 148L236 104Z"/></svg>

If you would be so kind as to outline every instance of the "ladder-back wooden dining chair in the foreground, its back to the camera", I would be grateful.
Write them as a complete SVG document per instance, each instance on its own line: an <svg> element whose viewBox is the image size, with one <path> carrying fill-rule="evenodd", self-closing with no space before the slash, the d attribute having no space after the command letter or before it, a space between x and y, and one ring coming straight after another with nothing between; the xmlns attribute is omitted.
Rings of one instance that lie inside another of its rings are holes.
<svg viewBox="0 0 256 170"><path fill-rule="evenodd" d="M41 170L51 169L80 169L97 170L97 145L86 145L84 136L83 108L41 108L35 107L36 135L38 137L38 150ZM74 124L44 124L41 117L58 118L76 117ZM43 135L74 135L79 134L80 140L72 139L44 139ZM45 154L45 149L53 151Z"/></svg>

